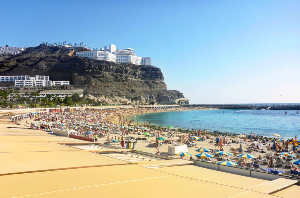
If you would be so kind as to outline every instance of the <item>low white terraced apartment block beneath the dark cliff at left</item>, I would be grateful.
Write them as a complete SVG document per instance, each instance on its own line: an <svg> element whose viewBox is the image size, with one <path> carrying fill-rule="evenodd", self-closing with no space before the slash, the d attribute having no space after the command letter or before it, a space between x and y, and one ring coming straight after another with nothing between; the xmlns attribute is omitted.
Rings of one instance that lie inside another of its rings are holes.
<svg viewBox="0 0 300 198"><path fill-rule="evenodd" d="M0 82L14 82L16 87L70 85L70 81L49 81L49 76L0 76Z"/></svg>

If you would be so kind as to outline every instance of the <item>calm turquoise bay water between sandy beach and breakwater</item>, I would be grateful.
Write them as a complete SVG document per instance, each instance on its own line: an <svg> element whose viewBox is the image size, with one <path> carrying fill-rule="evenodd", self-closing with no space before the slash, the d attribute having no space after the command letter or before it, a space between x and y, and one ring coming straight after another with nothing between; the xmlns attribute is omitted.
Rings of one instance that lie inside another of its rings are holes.
<svg viewBox="0 0 300 198"><path fill-rule="evenodd" d="M287 111L288 114L284 112L285 110L173 111L144 114L137 118L148 121L151 125L160 123L161 126L247 135L252 132L267 137L273 137L272 133L277 133L283 138L294 138L295 135L300 138L300 114L293 110Z"/></svg>

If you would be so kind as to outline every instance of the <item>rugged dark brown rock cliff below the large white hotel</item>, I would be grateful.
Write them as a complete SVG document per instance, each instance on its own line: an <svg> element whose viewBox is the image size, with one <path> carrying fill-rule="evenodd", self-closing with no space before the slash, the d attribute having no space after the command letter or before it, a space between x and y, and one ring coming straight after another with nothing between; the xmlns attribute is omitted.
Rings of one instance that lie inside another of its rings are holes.
<svg viewBox="0 0 300 198"><path fill-rule="evenodd" d="M179 91L167 90L159 68L92 60L73 56L75 53L38 46L14 56L0 55L0 75L49 75L52 81L70 81L73 87L83 87L87 97L111 103L131 103L135 96L141 103L183 98Z"/></svg>

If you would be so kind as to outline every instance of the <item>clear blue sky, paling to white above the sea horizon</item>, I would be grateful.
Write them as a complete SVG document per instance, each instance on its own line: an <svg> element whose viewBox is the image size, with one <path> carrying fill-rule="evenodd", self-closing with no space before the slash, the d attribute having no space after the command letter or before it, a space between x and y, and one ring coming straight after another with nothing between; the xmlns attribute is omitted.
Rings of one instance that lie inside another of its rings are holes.
<svg viewBox="0 0 300 198"><path fill-rule="evenodd" d="M0 46L116 44L190 103L300 102L300 1L0 1Z"/></svg>

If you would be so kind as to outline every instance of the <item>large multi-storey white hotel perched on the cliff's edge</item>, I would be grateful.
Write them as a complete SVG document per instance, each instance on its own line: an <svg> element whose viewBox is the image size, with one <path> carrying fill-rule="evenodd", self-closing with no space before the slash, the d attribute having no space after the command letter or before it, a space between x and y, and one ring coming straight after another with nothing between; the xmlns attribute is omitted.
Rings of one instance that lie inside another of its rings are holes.
<svg viewBox="0 0 300 198"><path fill-rule="evenodd" d="M76 56L87 57L95 60L106 60L117 63L133 63L136 65L152 65L150 57L136 56L134 50L127 48L126 50L117 50L116 45L111 44L110 48L104 47L100 50L93 51L77 51Z"/></svg>

